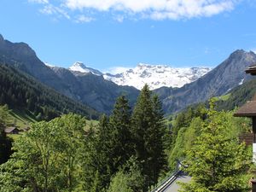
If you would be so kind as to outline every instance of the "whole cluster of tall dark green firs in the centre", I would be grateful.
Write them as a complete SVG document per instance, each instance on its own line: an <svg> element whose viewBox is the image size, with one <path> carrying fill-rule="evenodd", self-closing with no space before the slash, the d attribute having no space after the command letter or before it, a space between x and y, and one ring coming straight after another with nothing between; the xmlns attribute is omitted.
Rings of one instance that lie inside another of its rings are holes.
<svg viewBox="0 0 256 192"><path fill-rule="evenodd" d="M147 85L132 114L125 96L120 96L109 119L103 116L96 131L91 130L87 137L83 158L84 189L104 191L111 178L109 189L116 189L120 176L131 177L132 172L132 177L137 177L133 184L143 180L133 185L137 187L131 187L132 191L146 191L157 182L166 166L165 131L160 101L157 96L152 96ZM139 167L135 169L136 174L130 166L125 166L131 157L136 159ZM127 181L124 178L120 182Z"/></svg>

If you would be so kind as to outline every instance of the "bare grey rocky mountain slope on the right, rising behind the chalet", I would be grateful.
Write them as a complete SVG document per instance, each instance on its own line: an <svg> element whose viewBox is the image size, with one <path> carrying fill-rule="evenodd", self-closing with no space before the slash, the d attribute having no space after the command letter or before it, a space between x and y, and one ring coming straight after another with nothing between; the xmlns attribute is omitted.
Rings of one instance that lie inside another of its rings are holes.
<svg viewBox="0 0 256 192"><path fill-rule="evenodd" d="M224 95L243 81L252 79L244 70L254 63L256 55L252 51L236 50L227 60L195 82L178 89L160 88L154 91L160 96L166 113L175 113L190 104Z"/></svg>

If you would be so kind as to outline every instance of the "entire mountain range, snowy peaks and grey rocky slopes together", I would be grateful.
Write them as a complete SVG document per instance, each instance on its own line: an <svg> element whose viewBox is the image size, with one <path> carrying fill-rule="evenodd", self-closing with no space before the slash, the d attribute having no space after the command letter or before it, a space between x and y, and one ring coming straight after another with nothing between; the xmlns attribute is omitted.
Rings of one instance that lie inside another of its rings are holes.
<svg viewBox="0 0 256 192"><path fill-rule="evenodd" d="M239 49L215 68L173 68L140 63L122 73L102 73L75 62L69 68L54 67L40 61L25 43L11 43L0 35L0 64L22 73L57 92L101 113L111 113L116 98L125 95L131 106L148 84L160 96L166 114L222 96L251 79L244 69L256 63L256 55Z"/></svg>

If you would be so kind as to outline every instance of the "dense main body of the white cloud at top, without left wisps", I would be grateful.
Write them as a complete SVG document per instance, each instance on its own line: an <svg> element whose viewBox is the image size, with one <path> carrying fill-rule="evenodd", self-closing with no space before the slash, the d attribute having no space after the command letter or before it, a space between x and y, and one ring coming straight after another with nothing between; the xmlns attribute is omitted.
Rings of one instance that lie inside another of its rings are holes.
<svg viewBox="0 0 256 192"><path fill-rule="evenodd" d="M154 20L212 16L234 9L235 0L65 0L75 10L122 11Z"/></svg>

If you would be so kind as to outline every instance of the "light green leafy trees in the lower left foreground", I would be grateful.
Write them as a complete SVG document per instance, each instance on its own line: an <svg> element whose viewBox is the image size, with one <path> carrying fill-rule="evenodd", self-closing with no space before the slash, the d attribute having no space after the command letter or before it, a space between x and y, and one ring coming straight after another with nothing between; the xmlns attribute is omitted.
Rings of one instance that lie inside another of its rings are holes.
<svg viewBox="0 0 256 192"><path fill-rule="evenodd" d="M33 124L15 141L15 153L0 167L1 191L76 189L84 125L85 119L75 114Z"/></svg>

